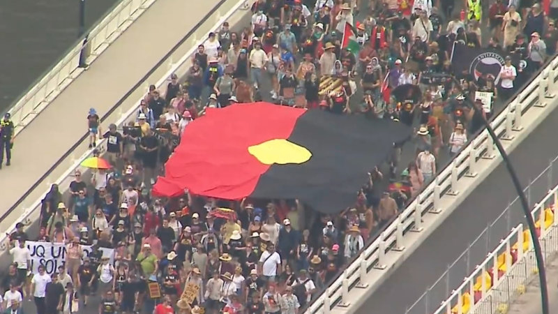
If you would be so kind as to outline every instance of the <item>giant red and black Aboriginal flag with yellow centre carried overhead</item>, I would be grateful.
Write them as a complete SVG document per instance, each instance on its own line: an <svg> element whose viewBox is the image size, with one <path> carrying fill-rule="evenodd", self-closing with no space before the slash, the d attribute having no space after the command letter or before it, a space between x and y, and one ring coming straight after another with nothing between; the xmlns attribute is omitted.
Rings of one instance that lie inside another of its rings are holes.
<svg viewBox="0 0 558 314"><path fill-rule="evenodd" d="M186 127L153 193L299 199L335 214L353 204L366 173L409 135L398 122L322 110L269 103L209 108Z"/></svg>

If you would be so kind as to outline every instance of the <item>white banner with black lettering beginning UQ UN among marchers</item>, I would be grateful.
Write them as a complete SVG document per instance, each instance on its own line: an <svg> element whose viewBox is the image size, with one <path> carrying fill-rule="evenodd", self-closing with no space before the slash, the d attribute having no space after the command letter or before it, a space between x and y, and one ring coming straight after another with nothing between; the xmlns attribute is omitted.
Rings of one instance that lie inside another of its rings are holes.
<svg viewBox="0 0 558 314"><path fill-rule="evenodd" d="M30 266L33 274L38 273L39 265L45 267L47 274L54 274L66 261L66 244L37 241L26 241L25 244L31 253ZM82 248L83 257L89 256L92 251L91 246L82 246ZM114 263L113 248L99 248L99 250L103 252L103 256L110 258L111 263Z"/></svg>

